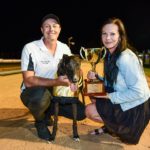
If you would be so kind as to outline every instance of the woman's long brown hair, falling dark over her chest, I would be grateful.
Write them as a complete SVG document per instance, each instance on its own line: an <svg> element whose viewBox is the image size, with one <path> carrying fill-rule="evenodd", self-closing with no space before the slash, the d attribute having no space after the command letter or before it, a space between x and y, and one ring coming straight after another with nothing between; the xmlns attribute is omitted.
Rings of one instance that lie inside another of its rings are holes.
<svg viewBox="0 0 150 150"><path fill-rule="evenodd" d="M116 65L116 61L121 55L121 52L124 51L128 46L127 46L127 35L125 31L125 27L123 25L123 22L118 19L118 18L109 18L104 22L102 25L102 28L106 24L115 24L118 26L118 32L120 35L120 41L118 43L118 46L116 50L110 54L109 50L107 50L107 54L104 60L104 74L105 78L109 84L109 86L113 87L113 83L116 82L117 80L117 75L118 75L118 67ZM101 32L102 32L101 28Z"/></svg>

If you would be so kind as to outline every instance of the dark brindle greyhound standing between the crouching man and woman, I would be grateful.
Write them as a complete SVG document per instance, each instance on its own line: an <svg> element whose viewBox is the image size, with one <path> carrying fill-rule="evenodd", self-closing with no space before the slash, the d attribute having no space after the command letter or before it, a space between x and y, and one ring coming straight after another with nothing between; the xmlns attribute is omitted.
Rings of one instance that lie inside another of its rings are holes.
<svg viewBox="0 0 150 150"><path fill-rule="evenodd" d="M73 139L75 141L80 141L78 131L77 131L77 99L79 94L82 96L83 103L83 74L81 73L81 59L76 56L68 56L63 55L63 58L60 60L58 64L57 76L66 75L70 82L78 85L78 90L76 92L72 92L70 87L66 86L56 86L53 88L53 99L54 102L54 123L53 123L53 131L52 138L50 141L55 140L56 132L57 132L57 123L58 123L58 113L59 113L59 104L70 103L72 105L73 111Z"/></svg>

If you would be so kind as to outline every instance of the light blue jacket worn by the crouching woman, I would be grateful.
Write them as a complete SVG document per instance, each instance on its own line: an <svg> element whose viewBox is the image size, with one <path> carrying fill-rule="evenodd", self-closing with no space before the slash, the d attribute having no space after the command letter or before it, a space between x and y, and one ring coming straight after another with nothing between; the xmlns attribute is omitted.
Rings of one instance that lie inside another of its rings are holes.
<svg viewBox="0 0 150 150"><path fill-rule="evenodd" d="M129 49L121 53L117 60L119 68L115 92L108 96L113 104L120 104L123 111L131 109L148 100L150 89L137 56Z"/></svg>

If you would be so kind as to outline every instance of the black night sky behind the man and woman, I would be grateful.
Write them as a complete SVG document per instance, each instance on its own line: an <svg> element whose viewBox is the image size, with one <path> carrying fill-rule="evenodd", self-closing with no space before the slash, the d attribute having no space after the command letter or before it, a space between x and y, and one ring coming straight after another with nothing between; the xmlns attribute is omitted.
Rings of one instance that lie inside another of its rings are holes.
<svg viewBox="0 0 150 150"><path fill-rule="evenodd" d="M40 39L40 21L47 13L60 18L59 40L68 43L73 36L73 53L81 46L99 47L99 26L108 17L122 19L129 42L138 51L150 49L148 1L5 0L0 5L0 58L20 58L26 43Z"/></svg>

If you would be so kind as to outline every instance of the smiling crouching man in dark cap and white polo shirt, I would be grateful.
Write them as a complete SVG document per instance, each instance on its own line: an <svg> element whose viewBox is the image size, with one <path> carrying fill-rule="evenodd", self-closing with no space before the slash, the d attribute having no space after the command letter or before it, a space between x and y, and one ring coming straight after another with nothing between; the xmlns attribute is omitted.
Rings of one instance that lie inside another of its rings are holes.
<svg viewBox="0 0 150 150"><path fill-rule="evenodd" d="M51 91L53 86L69 86L66 76L55 79L57 65L63 54L71 55L69 47L58 41L61 32L59 18L54 14L46 15L41 22L43 37L26 44L22 50L21 69L23 84L21 100L35 118L38 136L50 139L48 125Z"/></svg>

